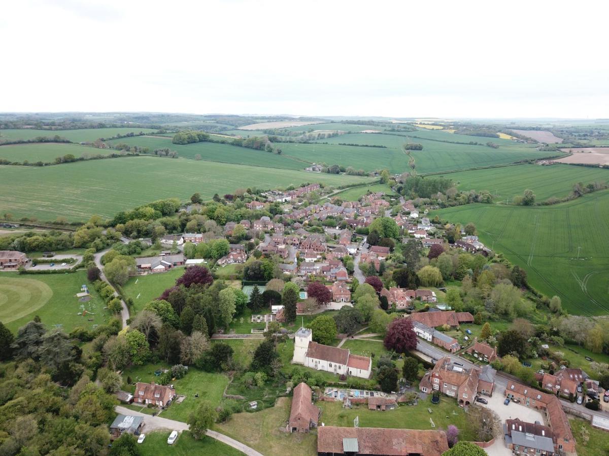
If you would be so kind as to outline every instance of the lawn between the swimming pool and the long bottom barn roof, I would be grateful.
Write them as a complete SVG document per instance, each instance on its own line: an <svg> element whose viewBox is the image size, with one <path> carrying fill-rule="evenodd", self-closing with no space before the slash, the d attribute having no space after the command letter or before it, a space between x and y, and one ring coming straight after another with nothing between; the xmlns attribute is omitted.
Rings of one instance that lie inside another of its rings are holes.
<svg viewBox="0 0 609 456"><path fill-rule="evenodd" d="M343 409L342 402L317 402L315 405L322 409L321 421L326 426L353 427L354 418L359 416L360 427L446 430L449 424L464 429L467 420L465 411L457 406L455 399L446 397L441 397L437 405L432 404L431 396L428 396L427 399L419 401L418 406L400 406L384 412L368 410L365 405L359 409ZM428 412L428 408L432 413ZM453 415L453 411L457 415ZM431 427L429 418L434 421L435 427ZM475 439L470 435L459 435L459 440Z"/></svg>

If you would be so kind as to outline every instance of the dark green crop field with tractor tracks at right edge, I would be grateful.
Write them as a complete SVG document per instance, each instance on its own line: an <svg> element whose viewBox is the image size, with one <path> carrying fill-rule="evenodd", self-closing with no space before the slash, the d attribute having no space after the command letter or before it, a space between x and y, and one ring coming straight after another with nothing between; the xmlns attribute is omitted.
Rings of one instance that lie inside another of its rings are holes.
<svg viewBox="0 0 609 456"><path fill-rule="evenodd" d="M481 241L526 269L529 283L563 308L609 314L609 191L554 206L469 204L434 211L451 222L476 224Z"/></svg>

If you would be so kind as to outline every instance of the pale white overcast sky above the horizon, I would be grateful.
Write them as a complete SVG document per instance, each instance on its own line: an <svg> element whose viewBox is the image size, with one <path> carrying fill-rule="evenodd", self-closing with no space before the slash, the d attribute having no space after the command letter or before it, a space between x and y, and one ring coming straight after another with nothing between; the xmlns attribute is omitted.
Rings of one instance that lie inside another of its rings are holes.
<svg viewBox="0 0 609 456"><path fill-rule="evenodd" d="M608 2L19 0L0 111L609 117Z"/></svg>

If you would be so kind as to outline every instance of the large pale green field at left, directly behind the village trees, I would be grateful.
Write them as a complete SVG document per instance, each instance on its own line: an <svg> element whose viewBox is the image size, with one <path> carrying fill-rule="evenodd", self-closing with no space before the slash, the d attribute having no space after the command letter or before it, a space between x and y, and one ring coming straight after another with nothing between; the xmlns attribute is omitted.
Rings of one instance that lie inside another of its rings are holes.
<svg viewBox="0 0 609 456"><path fill-rule="evenodd" d="M264 152L261 152L264 154ZM160 198L204 200L237 188L300 186L306 182L347 185L370 178L308 173L217 162L159 157L125 157L49 167L0 166L0 213L40 221L58 215L81 221L91 215L114 216L119 210ZM15 183L19 184L16 185Z"/></svg>

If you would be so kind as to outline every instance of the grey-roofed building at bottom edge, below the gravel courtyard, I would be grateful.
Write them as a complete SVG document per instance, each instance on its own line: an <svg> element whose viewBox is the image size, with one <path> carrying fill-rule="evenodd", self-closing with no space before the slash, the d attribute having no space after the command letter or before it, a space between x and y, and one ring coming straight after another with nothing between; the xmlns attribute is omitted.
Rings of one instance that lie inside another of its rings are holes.
<svg viewBox="0 0 609 456"><path fill-rule="evenodd" d="M505 446L519 455L554 455L555 438L552 430L538 423L527 423L518 418L505 420Z"/></svg>

